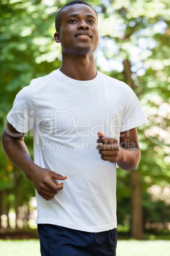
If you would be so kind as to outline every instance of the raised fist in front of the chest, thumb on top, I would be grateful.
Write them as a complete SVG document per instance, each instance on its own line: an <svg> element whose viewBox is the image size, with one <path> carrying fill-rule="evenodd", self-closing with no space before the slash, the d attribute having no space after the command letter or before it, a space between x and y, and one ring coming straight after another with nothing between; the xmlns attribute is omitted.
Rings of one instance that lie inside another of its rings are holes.
<svg viewBox="0 0 170 256"><path fill-rule="evenodd" d="M119 145L117 139L108 138L101 132L98 132L98 144L96 148L101 155L101 159L115 163L123 160L122 148Z"/></svg>

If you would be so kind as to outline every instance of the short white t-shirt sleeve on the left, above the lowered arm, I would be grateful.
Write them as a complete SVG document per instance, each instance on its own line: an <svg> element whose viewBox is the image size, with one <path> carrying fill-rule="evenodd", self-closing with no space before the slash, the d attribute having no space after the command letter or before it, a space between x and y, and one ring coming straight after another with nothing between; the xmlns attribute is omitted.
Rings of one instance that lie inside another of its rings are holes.
<svg viewBox="0 0 170 256"><path fill-rule="evenodd" d="M37 117L37 110L34 104L32 89L29 86L23 87L16 94L13 108L8 113L7 120L18 132L27 133L34 127Z"/></svg>

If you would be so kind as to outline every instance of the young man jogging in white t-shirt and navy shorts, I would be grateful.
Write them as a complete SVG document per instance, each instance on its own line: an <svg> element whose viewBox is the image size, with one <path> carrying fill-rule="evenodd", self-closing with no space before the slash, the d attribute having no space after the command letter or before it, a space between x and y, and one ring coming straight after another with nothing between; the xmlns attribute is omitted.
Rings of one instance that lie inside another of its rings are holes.
<svg viewBox="0 0 170 256"><path fill-rule="evenodd" d="M115 255L116 163L131 171L140 161L136 126L147 118L128 85L96 71L97 23L89 4L63 6L55 32L62 66L18 93L2 136L36 188L46 256ZM34 162L23 141L32 127Z"/></svg>

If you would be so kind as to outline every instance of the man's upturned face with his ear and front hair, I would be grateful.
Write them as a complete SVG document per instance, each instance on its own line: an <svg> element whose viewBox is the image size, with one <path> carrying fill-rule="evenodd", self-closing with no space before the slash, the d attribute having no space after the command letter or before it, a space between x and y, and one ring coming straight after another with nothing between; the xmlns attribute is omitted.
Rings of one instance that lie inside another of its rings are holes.
<svg viewBox="0 0 170 256"><path fill-rule="evenodd" d="M60 32L55 33L55 41L61 43L62 53L87 55L98 46L97 15L86 4L67 6L60 14Z"/></svg>

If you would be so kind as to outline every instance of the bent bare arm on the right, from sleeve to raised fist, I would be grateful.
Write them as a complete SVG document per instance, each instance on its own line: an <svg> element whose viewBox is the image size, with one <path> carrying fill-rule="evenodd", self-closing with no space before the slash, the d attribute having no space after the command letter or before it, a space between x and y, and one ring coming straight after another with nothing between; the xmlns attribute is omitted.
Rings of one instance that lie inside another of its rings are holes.
<svg viewBox="0 0 170 256"><path fill-rule="evenodd" d="M120 145L117 139L107 138L98 132L97 149L101 159L117 162L117 165L126 171L133 171L140 162L140 146L136 128L121 132Z"/></svg>

